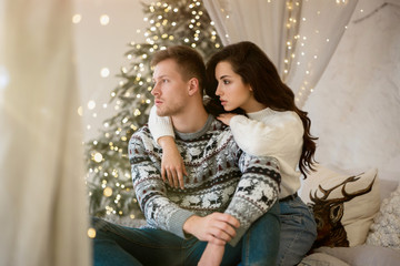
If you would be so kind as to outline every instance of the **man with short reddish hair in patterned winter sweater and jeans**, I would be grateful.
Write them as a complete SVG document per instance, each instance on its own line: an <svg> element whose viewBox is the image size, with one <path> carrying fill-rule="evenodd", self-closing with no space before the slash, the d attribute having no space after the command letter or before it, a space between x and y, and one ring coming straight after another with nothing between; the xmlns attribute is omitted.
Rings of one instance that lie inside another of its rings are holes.
<svg viewBox="0 0 400 266"><path fill-rule="evenodd" d="M188 173L186 187L163 182L162 150L147 125L138 130L129 142L129 160L150 228L127 228L94 218L94 264L197 265L200 258L201 264L246 264L244 256L252 250L242 255L242 236L250 227L271 226L271 239L279 242L277 160L246 154L229 127L207 113L202 101L206 70L198 52L171 47L156 53L152 65L157 113L172 120ZM262 248L270 257L277 252L271 248L268 254Z"/></svg>

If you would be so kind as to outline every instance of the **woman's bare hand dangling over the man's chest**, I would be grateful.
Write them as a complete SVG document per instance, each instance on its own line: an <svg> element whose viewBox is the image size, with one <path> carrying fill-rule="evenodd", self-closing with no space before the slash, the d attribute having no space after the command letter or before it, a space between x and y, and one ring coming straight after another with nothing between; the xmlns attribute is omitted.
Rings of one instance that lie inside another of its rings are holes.
<svg viewBox="0 0 400 266"><path fill-rule="evenodd" d="M183 175L188 175L183 158L181 157L178 147L172 136L161 136L158 143L162 147L161 160L161 177L168 182L170 186L184 188ZM167 176L167 177L166 177Z"/></svg>

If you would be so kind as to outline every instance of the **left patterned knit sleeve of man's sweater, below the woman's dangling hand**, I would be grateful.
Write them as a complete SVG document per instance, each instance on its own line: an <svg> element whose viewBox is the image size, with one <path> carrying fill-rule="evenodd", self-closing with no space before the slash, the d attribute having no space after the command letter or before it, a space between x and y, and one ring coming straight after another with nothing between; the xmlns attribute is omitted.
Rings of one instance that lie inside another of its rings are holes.
<svg viewBox="0 0 400 266"><path fill-rule="evenodd" d="M157 164L149 157L139 134L133 134L129 141L128 154L136 196L146 221L150 226L161 228L180 237L186 237L184 222L193 215L183 209L167 196L167 188Z"/></svg>

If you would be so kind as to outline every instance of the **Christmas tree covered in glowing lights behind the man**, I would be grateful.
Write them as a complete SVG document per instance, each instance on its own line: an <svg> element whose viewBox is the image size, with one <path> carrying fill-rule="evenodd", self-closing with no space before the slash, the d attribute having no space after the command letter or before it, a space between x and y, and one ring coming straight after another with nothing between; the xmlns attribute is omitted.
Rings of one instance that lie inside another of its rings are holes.
<svg viewBox="0 0 400 266"><path fill-rule="evenodd" d="M86 143L90 214L114 221L143 217L127 153L130 136L148 122L153 104L152 54L169 45L184 44L197 49L207 61L221 47L202 1L164 0L142 7L149 22L147 39L144 43L129 44L129 66L121 69L121 81L110 99L118 112L104 121L98 139Z"/></svg>

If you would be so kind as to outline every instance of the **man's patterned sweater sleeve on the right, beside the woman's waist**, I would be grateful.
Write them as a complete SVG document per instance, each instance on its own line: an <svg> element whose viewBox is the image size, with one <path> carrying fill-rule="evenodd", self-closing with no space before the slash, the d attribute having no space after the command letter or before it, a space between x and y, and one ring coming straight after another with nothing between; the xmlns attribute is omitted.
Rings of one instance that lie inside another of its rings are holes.
<svg viewBox="0 0 400 266"><path fill-rule="evenodd" d="M239 168L242 176L226 209L226 213L240 222L237 235L230 242L232 246L240 241L251 224L277 202L281 180L278 161L273 157L257 157L241 153Z"/></svg>

